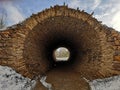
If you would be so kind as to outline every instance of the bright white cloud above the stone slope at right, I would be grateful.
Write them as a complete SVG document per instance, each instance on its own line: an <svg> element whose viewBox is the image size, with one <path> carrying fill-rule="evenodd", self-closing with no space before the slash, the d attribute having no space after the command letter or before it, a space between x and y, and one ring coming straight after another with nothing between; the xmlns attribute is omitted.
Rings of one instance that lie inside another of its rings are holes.
<svg viewBox="0 0 120 90"><path fill-rule="evenodd" d="M110 27L115 28L120 31L120 1L110 0L109 3L101 4L100 14L96 14L95 17L103 21L103 24L106 24Z"/></svg>

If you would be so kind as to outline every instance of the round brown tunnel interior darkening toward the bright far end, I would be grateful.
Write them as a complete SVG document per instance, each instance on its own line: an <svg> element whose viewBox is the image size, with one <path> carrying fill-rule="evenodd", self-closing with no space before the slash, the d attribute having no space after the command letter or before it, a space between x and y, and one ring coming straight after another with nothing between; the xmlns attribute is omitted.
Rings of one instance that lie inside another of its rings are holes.
<svg viewBox="0 0 120 90"><path fill-rule="evenodd" d="M89 69L97 65L91 61L99 63L97 61L101 59L100 40L94 27L81 19L67 16L50 17L36 25L28 34L24 47L26 66L34 75L53 68L73 68L87 75L93 73ZM67 62L54 60L53 52L59 47L66 47L70 51ZM94 69L97 72L98 68Z"/></svg>

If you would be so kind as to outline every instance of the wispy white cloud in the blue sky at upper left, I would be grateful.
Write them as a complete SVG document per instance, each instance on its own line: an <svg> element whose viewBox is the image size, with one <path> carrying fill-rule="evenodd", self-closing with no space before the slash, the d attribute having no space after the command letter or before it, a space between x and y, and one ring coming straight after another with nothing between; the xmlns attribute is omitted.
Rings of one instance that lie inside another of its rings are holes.
<svg viewBox="0 0 120 90"><path fill-rule="evenodd" d="M23 14L19 11L17 7L12 2L2 2L3 8L7 12L7 19L12 24L19 23L24 20Z"/></svg>

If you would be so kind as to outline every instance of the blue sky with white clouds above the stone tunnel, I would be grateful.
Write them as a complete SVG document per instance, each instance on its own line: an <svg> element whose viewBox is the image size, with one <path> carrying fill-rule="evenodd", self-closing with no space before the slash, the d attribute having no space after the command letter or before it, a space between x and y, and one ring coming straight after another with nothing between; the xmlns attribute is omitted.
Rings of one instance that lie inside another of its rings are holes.
<svg viewBox="0 0 120 90"><path fill-rule="evenodd" d="M4 12L8 26L22 22L32 14L36 14L54 6L66 3L70 8L79 7L103 24L120 31L120 0L0 0L0 16Z"/></svg>

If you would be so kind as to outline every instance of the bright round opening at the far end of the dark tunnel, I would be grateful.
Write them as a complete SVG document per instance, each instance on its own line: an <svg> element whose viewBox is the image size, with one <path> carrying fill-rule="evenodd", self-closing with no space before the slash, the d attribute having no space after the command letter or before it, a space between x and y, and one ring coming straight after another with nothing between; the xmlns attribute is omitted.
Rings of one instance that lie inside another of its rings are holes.
<svg viewBox="0 0 120 90"><path fill-rule="evenodd" d="M70 51L66 47L59 47L54 50L53 58L56 62L68 61L70 58Z"/></svg>

